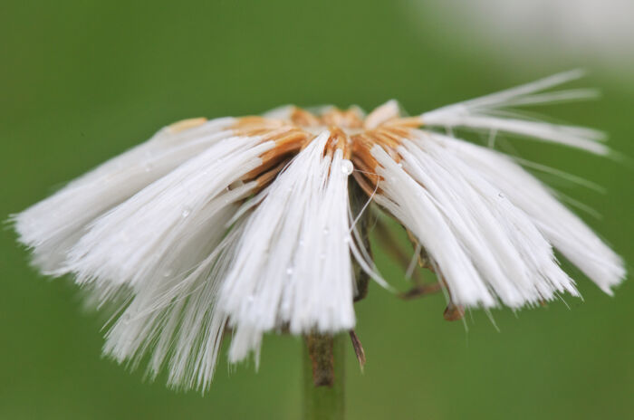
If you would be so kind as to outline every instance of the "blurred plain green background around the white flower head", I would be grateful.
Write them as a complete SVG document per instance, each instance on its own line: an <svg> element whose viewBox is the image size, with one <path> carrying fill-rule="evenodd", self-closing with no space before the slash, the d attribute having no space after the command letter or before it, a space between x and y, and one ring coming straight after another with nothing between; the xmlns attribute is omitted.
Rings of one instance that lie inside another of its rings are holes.
<svg viewBox="0 0 634 420"><path fill-rule="evenodd" d="M285 103L390 98L421 112L575 67L603 98L549 108L610 132L634 156L634 79L588 56L518 61L412 1L4 1L0 14L0 217L24 209L160 127L259 113ZM615 11L618 13L618 11ZM485 27L482 28L486 30ZM520 52L521 53L521 52ZM545 54L545 53L544 53ZM581 85L583 83L577 83ZM629 262L632 171L579 151L514 140L524 158L605 186L601 195L544 177L600 211L581 213ZM379 253L399 289L402 270ZM265 339L260 371L227 367L206 396L146 383L102 359L102 319L78 292L28 266L0 236L0 419L298 418L298 339ZM444 298L399 301L375 285L357 304L365 373L348 349L350 419L634 417L634 286L615 298L581 273L584 302L443 320Z"/></svg>

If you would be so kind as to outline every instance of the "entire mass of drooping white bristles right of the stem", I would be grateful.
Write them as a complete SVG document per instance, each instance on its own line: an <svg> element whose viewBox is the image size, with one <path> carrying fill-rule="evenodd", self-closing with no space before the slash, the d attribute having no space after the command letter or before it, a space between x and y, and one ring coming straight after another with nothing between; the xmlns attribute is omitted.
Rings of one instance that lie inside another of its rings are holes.
<svg viewBox="0 0 634 420"><path fill-rule="evenodd" d="M451 148L446 147L449 142ZM417 138L404 139L398 148L400 164L382 148L372 149L383 177L379 204L417 235L447 282L452 301L485 307L501 301L519 308L555 299L562 291L578 295L551 246L563 245L568 249L562 252L570 253L572 238L582 241L575 252L587 246L599 253L590 262L580 261L579 256L573 262L593 272L591 277L604 290L607 284L619 281L623 271L618 257L597 243L587 227L580 228L578 219L537 187L537 181L510 161L502 166L497 162L500 157L484 157L485 153L495 156L495 152L485 150L474 165L473 158L456 153L463 145L465 150L477 148L419 132ZM535 217L540 208L543 213ZM543 218L548 221L547 229ZM577 234L568 231L571 224ZM564 237L571 239L562 243Z"/></svg>

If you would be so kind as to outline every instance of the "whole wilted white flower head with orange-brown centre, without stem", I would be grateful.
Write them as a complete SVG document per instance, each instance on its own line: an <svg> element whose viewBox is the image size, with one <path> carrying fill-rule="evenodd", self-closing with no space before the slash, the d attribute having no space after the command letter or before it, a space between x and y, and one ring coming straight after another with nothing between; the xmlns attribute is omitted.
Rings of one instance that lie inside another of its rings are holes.
<svg viewBox="0 0 634 420"><path fill-rule="evenodd" d="M579 99L541 93L567 72L417 117L389 101L312 113L188 119L14 216L34 264L72 274L120 315L104 352L176 387L206 389L226 330L229 359L259 355L268 331L353 329L360 272L383 286L358 231L365 192L410 234L449 308L511 308L579 295L553 247L603 291L620 257L512 157L441 134L473 129L606 155L591 129L505 109ZM425 128L425 129L422 129ZM457 313L457 312L456 312Z"/></svg>

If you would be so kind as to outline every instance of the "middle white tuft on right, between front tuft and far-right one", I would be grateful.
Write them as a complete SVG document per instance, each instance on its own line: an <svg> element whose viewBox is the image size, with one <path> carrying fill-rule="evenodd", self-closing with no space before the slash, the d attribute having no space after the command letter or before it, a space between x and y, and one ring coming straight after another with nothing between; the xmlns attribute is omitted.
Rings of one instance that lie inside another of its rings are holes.
<svg viewBox="0 0 634 420"><path fill-rule="evenodd" d="M533 221L476 170L426 138L404 140L399 153L505 305L552 300L556 291L578 294Z"/></svg>

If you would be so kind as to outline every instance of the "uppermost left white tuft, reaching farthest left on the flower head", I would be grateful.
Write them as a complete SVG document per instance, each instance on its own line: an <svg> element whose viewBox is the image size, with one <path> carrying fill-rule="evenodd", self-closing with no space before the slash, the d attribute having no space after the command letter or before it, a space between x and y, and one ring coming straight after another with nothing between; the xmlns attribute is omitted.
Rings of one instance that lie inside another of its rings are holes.
<svg viewBox="0 0 634 420"><path fill-rule="evenodd" d="M231 136L233 118L213 119L175 132L160 129L145 143L113 157L53 196L14 215L19 241L32 248L34 265L54 274L86 224L134 195L188 158Z"/></svg>

